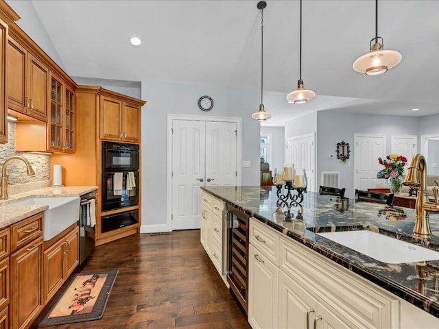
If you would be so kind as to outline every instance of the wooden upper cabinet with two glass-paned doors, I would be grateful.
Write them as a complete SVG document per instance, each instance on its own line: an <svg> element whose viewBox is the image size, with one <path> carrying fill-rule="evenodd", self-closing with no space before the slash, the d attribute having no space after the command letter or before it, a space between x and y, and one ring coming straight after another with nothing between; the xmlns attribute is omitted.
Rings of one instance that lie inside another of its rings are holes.
<svg viewBox="0 0 439 329"><path fill-rule="evenodd" d="M51 73L50 83L47 149L73 153L75 151L75 93L53 73Z"/></svg>

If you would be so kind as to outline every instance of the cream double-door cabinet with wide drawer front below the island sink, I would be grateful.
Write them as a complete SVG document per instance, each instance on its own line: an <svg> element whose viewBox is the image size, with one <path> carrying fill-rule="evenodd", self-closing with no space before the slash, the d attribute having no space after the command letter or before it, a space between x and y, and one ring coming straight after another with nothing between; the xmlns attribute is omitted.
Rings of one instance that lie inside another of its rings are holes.
<svg viewBox="0 0 439 329"><path fill-rule="evenodd" d="M280 328L309 329L311 321L312 328L399 328L399 300L391 293L293 239L281 236L279 250Z"/></svg>

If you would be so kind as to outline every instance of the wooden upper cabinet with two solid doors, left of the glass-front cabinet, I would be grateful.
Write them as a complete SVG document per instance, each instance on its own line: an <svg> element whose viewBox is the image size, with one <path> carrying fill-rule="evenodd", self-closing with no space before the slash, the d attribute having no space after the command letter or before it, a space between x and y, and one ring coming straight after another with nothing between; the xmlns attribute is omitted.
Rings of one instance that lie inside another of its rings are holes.
<svg viewBox="0 0 439 329"><path fill-rule="evenodd" d="M11 36L8 38L7 51L8 108L47 121L49 69Z"/></svg>

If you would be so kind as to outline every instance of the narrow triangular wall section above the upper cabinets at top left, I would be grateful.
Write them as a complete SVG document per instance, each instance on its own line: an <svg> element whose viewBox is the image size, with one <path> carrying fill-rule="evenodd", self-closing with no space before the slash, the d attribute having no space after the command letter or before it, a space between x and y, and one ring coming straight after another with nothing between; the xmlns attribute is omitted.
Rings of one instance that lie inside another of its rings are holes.
<svg viewBox="0 0 439 329"><path fill-rule="evenodd" d="M28 0L6 0L6 3L21 17L19 21L16 21L16 24L65 71L58 51L56 51L50 40L32 2Z"/></svg>

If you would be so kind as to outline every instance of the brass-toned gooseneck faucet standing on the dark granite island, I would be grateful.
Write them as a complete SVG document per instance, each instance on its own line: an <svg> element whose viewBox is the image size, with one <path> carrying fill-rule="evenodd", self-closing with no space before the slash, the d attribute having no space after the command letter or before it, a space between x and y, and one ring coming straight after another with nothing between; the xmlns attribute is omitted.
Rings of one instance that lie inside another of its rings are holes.
<svg viewBox="0 0 439 329"><path fill-rule="evenodd" d="M413 156L403 184L418 187L414 235L423 239L430 239L429 213L439 212L438 188L433 188L434 202L430 202L427 191L427 162L422 154L415 154Z"/></svg>

